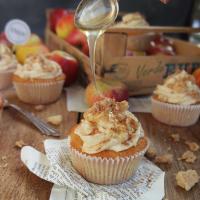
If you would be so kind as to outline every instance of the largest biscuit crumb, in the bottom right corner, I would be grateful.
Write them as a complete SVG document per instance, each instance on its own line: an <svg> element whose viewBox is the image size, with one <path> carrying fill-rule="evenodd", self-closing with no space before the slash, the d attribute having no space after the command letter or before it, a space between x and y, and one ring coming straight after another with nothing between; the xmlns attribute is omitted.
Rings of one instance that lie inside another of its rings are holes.
<svg viewBox="0 0 200 200"><path fill-rule="evenodd" d="M199 182L199 175L196 170L179 171L176 174L177 185L189 191L196 183Z"/></svg>

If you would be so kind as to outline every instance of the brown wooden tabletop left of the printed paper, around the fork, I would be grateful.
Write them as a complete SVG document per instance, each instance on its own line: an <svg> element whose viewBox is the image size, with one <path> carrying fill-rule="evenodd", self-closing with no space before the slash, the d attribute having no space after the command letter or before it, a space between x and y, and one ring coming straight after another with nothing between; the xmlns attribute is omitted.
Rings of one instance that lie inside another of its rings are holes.
<svg viewBox="0 0 200 200"><path fill-rule="evenodd" d="M67 130L76 123L77 114L69 113L66 108L64 95L62 98L44 109L36 112L33 106L19 102L14 94L9 95L9 100L26 110L36 113L40 118L46 119L50 115L63 115L63 123L58 127L66 137ZM20 160L20 149L15 147L15 142L23 140L39 151L44 151L43 141L49 137L41 135L29 122L12 110L4 110L0 122L0 200L46 200L49 199L52 184L33 175L23 166ZM6 160L2 157L6 156Z"/></svg>

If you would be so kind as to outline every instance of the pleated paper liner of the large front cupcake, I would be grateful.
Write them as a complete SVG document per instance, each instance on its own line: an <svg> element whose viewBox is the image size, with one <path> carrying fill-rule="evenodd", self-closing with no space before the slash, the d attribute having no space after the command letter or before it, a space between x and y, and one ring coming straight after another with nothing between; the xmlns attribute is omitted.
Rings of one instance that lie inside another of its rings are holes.
<svg viewBox="0 0 200 200"><path fill-rule="evenodd" d="M129 157L100 158L83 154L70 147L70 159L74 168L87 181L97 184L119 184L130 179L138 169L148 145L139 153Z"/></svg>

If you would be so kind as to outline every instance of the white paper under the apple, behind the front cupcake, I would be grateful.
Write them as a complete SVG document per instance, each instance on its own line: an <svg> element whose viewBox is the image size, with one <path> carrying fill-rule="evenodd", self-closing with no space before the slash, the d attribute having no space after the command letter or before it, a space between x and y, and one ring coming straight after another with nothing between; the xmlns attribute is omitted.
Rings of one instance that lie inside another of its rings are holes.
<svg viewBox="0 0 200 200"><path fill-rule="evenodd" d="M72 86L67 91L67 109L70 112L85 112L88 109L85 103L85 89L81 86ZM151 113L150 97L129 98L131 112Z"/></svg>

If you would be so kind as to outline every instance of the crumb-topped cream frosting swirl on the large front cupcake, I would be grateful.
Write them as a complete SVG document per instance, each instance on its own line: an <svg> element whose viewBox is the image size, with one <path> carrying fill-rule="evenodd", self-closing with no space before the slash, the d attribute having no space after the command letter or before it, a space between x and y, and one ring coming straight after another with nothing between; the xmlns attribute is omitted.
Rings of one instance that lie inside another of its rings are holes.
<svg viewBox="0 0 200 200"><path fill-rule="evenodd" d="M75 129L83 141L82 151L95 154L104 150L124 151L136 146L144 136L137 118L128 111L126 101L104 99L86 113Z"/></svg>

